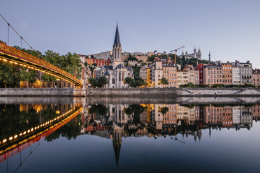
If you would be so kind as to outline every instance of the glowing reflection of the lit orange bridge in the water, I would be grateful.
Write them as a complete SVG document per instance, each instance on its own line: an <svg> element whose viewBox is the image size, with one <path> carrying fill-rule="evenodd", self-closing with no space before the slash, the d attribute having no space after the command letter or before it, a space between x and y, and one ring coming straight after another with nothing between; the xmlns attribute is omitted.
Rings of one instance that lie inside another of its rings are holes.
<svg viewBox="0 0 260 173"><path fill-rule="evenodd" d="M73 107L64 114L55 117L55 119L39 124L34 128L24 130L20 134L13 135L1 141L0 163L55 132L55 130L61 128L71 121L71 119L75 118L82 109L82 107Z"/></svg>

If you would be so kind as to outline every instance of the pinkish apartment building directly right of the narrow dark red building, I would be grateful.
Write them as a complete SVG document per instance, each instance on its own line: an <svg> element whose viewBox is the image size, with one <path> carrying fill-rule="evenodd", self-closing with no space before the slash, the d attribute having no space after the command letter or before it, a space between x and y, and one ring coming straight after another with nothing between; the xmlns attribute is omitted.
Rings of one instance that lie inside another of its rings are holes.
<svg viewBox="0 0 260 173"><path fill-rule="evenodd" d="M222 65L211 64L203 67L203 84L222 84Z"/></svg>

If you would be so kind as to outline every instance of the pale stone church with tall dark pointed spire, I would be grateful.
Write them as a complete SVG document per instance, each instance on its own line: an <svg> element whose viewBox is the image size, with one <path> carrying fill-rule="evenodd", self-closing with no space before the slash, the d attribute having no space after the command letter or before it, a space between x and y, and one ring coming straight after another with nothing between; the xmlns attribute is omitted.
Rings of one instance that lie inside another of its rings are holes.
<svg viewBox="0 0 260 173"><path fill-rule="evenodd" d="M131 67L124 66L122 59L122 45L120 42L120 34L118 27L115 31L115 40L113 44L113 56L111 66L102 66L101 76L106 76L108 79L107 88L126 88L128 84L124 84L126 77L133 77L133 69Z"/></svg>

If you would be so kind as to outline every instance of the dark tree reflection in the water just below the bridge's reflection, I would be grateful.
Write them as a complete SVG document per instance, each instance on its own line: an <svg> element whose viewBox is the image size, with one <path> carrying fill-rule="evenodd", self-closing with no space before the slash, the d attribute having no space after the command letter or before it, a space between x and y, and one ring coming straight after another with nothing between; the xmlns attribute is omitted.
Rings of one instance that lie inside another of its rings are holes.
<svg viewBox="0 0 260 173"><path fill-rule="evenodd" d="M59 137L66 137L68 140L71 140L72 138L75 139L78 135L80 135L81 130L81 114L78 114L75 119L72 119L68 123L66 123L64 126L56 130L54 133L48 135L48 137L45 137L45 140L48 142L51 142L53 140L59 139Z"/></svg>

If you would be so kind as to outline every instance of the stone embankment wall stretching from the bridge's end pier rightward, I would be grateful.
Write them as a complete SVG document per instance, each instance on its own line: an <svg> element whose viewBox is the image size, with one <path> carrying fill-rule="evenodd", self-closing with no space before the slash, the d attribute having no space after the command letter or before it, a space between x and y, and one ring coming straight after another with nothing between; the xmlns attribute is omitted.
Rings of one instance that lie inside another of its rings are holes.
<svg viewBox="0 0 260 173"><path fill-rule="evenodd" d="M87 89L87 96L260 96L260 89L171 89L171 88L123 88L123 89Z"/></svg>

